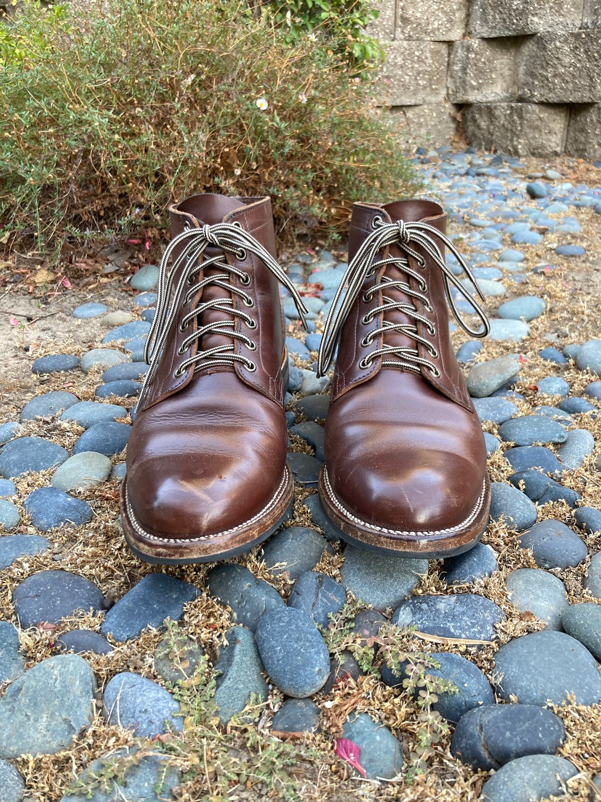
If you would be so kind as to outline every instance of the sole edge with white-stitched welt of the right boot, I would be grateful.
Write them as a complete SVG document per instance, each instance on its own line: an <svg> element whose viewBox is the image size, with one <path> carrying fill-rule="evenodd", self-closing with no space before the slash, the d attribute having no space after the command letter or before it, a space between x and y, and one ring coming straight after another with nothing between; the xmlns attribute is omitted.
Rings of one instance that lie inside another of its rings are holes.
<svg viewBox="0 0 601 802"><path fill-rule="evenodd" d="M439 532L393 532L359 520L335 496L325 465L319 477L319 497L325 513L340 529L342 539L358 549L396 557L436 560L469 551L480 540L488 523L490 480L486 475L478 503L465 524Z"/></svg>

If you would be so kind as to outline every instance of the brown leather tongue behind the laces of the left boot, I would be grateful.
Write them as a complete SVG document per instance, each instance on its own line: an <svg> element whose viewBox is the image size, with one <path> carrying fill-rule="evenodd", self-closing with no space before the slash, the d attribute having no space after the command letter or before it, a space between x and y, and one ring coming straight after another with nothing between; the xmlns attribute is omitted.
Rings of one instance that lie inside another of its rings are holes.
<svg viewBox="0 0 601 802"><path fill-rule="evenodd" d="M216 225L217 223L221 223L224 221L224 217L227 217L232 212L236 212L236 210L244 208L244 204L240 202L239 198L232 198L223 195L200 195L189 198L188 201L184 201L181 205L179 205L179 210L182 212L187 212L188 214L192 214L193 217L196 217L198 221L198 225ZM244 218L240 221L244 224ZM209 246L204 250L204 257L205 259L214 257L214 256L222 256L220 261L227 264L228 260L226 255L223 251L219 248ZM227 273L224 269L220 269L218 266L211 265L208 268L204 269L204 277L208 276L216 276L216 275L224 275ZM228 282L228 279L224 279L224 282ZM202 297L200 299L200 303L208 302L216 300L216 298L232 298L232 294L228 293L228 290L224 290L222 287L216 286L214 284L209 284L205 286L203 290ZM227 305L226 305L227 306ZM215 309L208 309L204 311L203 314L199 316L198 319L198 326L207 326L209 323L214 323L217 321L234 321L234 318L231 314L227 312L222 312L220 310ZM228 330L233 328L232 326L224 326L224 330ZM231 345L233 342L231 337L228 337L227 334L214 334L209 332L208 334L204 334L202 338L200 338L199 342L199 350L209 350L211 348L216 348L218 346L227 346ZM200 363L202 366L202 363ZM221 370L233 370L233 368L228 368L226 366L221 367Z"/></svg>

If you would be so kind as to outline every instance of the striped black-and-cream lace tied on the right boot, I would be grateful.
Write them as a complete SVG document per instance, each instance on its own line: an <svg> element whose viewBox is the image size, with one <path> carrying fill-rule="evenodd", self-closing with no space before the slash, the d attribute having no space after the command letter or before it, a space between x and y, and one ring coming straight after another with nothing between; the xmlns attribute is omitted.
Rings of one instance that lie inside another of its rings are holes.
<svg viewBox="0 0 601 802"><path fill-rule="evenodd" d="M420 248L426 251L432 261L434 261L434 264L438 265L438 268L442 271L445 282L446 298L449 301L450 308L453 311L454 317L459 325L462 326L462 329L472 337L486 337L486 334L488 334L490 331L490 324L488 322L488 318L486 318L486 314L482 311L478 305L478 302L476 302L470 293L465 289L465 287L462 286L458 278L454 276L454 273L452 273L446 266L441 250L434 240L434 237L438 237L438 240L446 245L446 248L449 249L450 253L454 254L454 257L456 257L459 265L462 266L462 269L465 271L467 277L469 277L470 282L472 282L474 285L474 289L478 293L478 297L483 301L484 297L478 289L478 284L476 283L470 268L467 266L466 261L462 257L461 253L458 252L458 249L455 248L448 237L438 231L438 229L435 229L434 226L428 225L427 223L405 223L401 220L396 223L385 223L382 221L381 217L374 217L372 225L374 227L373 233L370 233L369 236L365 238L361 248L357 251L357 254L349 263L349 267L346 269L342 282L338 287L336 296L333 299L332 308L325 322L324 335L321 339L321 347L319 350L319 358L317 363L317 375L325 375L332 364L333 354L336 350L337 341L340 337L342 327L345 324L346 318L349 316L349 312L353 306L353 303L357 300L358 295L361 293L365 278L373 275L373 273L385 265L396 265L402 273L405 273L407 276L407 281L393 281L391 278L382 275L379 282L376 282L372 287L369 287L368 290L363 292L363 300L364 302L368 303L374 294L381 291L382 302L379 306L376 306L374 309L370 310L368 314L365 314L362 322L364 324L369 324L370 322L373 322L374 318L377 318L377 316L382 313L382 324L381 326L377 326L377 328L369 331L369 334L366 334L365 338L363 338L361 341L361 345L364 347L369 346L371 342L373 342L373 339L377 338L380 334L397 331L400 334L404 334L406 337L413 339L414 342L424 346L433 360L438 358L438 351L434 345L429 342L429 340L427 340L425 337L422 337L422 334L419 334L417 331L417 326L413 326L411 323L393 323L386 320L387 312L390 310L398 310L416 323L422 323L422 325L426 327L426 331L428 334L430 334L430 337L434 337L436 335L436 327L434 324L432 324L423 314L420 314L417 309L417 304L420 304L423 306L426 312L433 311L427 294L428 286L424 280L424 277L417 273L416 270L413 270L411 267L409 267L409 260L405 257L385 257L384 259L377 259L374 261L377 253L379 253L382 249L388 248L390 245L397 245L398 248L405 251L405 253L407 253L417 262L419 269L424 269L426 267L426 260L420 253L417 253L417 251L411 247L411 244L413 243L413 245L418 245ZM413 278L413 280L417 283L419 290L413 290L411 286L409 286L409 277ZM470 304L474 306L474 312L475 314L478 314L478 318L480 318L482 322L482 330L472 330L462 318L461 314L459 314L459 311L455 306L455 302L450 294L450 283L457 288L464 298L466 298L466 301L470 302ZM393 289L400 290L403 294L408 296L410 300L400 302L393 301L386 295L387 290ZM368 368L373 362L373 359L379 356L385 357L382 360L383 365L401 367L405 370L413 371L414 373L420 373L421 367L424 366L432 373L432 375L436 377L440 376L438 367L436 367L432 360L421 357L417 347L411 348L407 346L389 346L385 343L382 344L381 348L376 348L373 351L370 351L365 358L361 359L359 367L362 369Z"/></svg>

